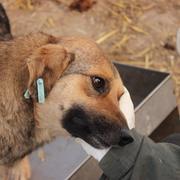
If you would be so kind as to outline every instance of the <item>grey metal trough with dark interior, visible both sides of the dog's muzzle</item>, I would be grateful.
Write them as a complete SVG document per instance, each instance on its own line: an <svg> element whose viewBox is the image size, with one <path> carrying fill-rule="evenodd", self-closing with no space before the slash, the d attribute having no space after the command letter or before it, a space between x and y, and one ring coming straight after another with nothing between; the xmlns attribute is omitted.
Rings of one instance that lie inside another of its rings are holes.
<svg viewBox="0 0 180 180"><path fill-rule="evenodd" d="M116 63L136 107L136 128L151 133L176 106L169 74ZM45 162L31 156L32 180L64 180L87 161L88 155L72 139L58 138L46 145Z"/></svg>

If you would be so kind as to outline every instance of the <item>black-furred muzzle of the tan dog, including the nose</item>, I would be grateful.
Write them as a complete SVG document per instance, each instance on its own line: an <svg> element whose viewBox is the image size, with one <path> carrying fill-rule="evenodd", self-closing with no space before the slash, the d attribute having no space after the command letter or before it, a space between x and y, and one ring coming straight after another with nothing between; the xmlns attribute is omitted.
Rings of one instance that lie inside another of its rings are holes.
<svg viewBox="0 0 180 180"><path fill-rule="evenodd" d="M65 113L62 125L72 136L79 137L96 148L124 146L133 141L127 128L79 106L73 106Z"/></svg>

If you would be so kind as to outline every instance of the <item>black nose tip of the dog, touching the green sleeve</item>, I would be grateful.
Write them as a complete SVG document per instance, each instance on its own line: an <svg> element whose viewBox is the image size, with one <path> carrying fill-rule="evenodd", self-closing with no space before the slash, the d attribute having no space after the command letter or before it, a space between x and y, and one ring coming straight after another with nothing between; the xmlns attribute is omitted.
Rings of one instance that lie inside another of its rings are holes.
<svg viewBox="0 0 180 180"><path fill-rule="evenodd" d="M133 137L130 135L130 131L128 129L121 129L120 141L118 143L119 146L125 146L134 141Z"/></svg>

